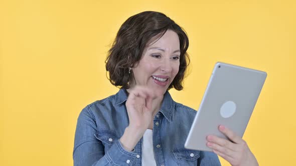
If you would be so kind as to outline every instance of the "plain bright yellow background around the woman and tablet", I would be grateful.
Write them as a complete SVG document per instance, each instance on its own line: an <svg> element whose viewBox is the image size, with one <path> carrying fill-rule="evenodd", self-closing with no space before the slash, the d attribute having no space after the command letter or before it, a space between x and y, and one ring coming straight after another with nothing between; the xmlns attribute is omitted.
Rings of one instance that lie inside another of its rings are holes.
<svg viewBox="0 0 296 166"><path fill-rule="evenodd" d="M191 72L171 90L176 101L198 109L216 61L268 73L243 138L260 165L296 165L293 0L0 0L0 165L73 164L79 112L118 91L106 52L144 10L189 35Z"/></svg>

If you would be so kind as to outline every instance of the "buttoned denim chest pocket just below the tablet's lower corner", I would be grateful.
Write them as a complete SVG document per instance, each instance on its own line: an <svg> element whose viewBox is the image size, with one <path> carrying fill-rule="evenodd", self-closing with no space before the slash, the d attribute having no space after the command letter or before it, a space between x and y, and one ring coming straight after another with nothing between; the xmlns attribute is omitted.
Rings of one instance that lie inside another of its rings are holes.
<svg viewBox="0 0 296 166"><path fill-rule="evenodd" d="M178 165L197 165L197 159L200 156L199 150L190 150L184 147L175 148L173 153Z"/></svg>

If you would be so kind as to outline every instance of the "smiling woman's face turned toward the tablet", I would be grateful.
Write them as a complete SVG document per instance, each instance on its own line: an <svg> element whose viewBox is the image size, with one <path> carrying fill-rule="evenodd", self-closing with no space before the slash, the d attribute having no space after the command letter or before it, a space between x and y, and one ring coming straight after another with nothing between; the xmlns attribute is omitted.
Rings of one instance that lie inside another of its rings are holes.
<svg viewBox="0 0 296 166"><path fill-rule="evenodd" d="M157 38L156 38L157 39ZM180 65L180 41L173 30L145 47L141 59L132 67L136 85L162 95L174 80Z"/></svg>

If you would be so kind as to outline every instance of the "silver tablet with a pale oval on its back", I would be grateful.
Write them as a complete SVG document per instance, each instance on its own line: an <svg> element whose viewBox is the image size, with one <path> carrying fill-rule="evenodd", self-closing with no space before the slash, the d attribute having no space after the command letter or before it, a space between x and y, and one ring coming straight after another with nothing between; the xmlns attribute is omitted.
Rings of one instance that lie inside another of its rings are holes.
<svg viewBox="0 0 296 166"><path fill-rule="evenodd" d="M243 136L266 72L217 62L193 121L185 148L212 151L206 136L226 138L218 130L220 124Z"/></svg>

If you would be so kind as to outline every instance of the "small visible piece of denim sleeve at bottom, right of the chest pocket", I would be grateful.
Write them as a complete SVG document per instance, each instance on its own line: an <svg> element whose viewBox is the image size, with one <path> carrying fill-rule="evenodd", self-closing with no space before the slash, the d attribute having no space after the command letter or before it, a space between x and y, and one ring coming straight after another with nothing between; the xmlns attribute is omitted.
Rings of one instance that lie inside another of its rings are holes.
<svg viewBox="0 0 296 166"><path fill-rule="evenodd" d="M218 155L211 151L201 151L198 166L221 166Z"/></svg>

